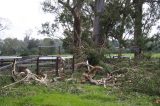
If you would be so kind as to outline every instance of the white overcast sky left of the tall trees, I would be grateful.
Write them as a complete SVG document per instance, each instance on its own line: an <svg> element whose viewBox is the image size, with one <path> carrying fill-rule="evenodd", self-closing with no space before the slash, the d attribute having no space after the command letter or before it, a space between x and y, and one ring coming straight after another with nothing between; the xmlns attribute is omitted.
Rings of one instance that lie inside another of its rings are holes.
<svg viewBox="0 0 160 106"><path fill-rule="evenodd" d="M46 36L37 34L41 23L53 21L54 15L44 13L41 3L44 0L0 0L0 17L9 21L9 28L0 32L0 38L23 39L25 33L31 32L32 38L42 39Z"/></svg>

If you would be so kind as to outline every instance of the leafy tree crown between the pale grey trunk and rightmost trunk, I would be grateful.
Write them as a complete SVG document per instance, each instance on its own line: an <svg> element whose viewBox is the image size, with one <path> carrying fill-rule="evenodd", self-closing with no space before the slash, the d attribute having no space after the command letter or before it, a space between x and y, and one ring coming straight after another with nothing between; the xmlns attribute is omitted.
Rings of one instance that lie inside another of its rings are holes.
<svg viewBox="0 0 160 106"><path fill-rule="evenodd" d="M132 34L133 22L131 18L130 0L109 0L105 2L105 9L100 18L101 34L104 41L114 38L119 43L119 56L125 45L127 35ZM107 45L106 45L107 46Z"/></svg>

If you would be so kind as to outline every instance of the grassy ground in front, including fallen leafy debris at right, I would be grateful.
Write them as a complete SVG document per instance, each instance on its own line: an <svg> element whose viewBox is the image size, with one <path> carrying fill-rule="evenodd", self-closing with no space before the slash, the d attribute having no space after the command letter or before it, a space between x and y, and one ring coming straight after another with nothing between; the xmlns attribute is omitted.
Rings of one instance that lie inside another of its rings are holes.
<svg viewBox="0 0 160 106"><path fill-rule="evenodd" d="M152 57L160 57L154 54ZM44 85L17 84L0 89L1 106L158 106L160 100L160 61L134 62L114 60L105 64L107 71L129 70L123 89L118 86L80 84L77 82L54 82ZM80 73L75 73L77 77ZM10 76L0 77L0 88L10 84Z"/></svg>

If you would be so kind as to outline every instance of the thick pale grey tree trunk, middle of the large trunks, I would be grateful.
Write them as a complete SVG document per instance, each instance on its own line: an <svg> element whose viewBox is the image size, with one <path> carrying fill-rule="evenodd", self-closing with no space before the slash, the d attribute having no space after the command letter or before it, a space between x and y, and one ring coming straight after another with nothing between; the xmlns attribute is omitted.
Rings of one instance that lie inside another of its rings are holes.
<svg viewBox="0 0 160 106"><path fill-rule="evenodd" d="M94 26L93 26L93 41L97 46L104 44L104 37L102 36L101 26L100 26L100 15L104 11L104 0L96 0L95 1L95 18L94 18Z"/></svg>

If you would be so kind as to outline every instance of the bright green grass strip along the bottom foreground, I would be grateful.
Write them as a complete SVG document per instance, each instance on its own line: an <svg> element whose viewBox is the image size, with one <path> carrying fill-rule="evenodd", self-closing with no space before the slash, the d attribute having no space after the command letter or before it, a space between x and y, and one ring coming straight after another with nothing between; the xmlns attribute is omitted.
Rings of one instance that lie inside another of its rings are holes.
<svg viewBox="0 0 160 106"><path fill-rule="evenodd" d="M82 93L59 92L37 85L17 86L1 90L1 106L153 106L153 97L124 94L113 88L93 85L77 85Z"/></svg>

